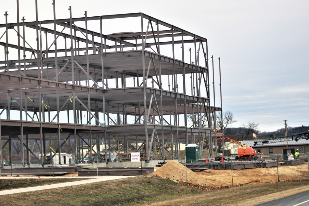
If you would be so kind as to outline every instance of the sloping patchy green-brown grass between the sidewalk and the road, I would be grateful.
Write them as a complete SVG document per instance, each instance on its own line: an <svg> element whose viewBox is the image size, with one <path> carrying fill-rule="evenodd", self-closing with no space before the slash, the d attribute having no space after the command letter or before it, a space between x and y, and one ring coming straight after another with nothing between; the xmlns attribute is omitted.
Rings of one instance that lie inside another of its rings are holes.
<svg viewBox="0 0 309 206"><path fill-rule="evenodd" d="M1 196L1 205L219 205L238 203L287 189L309 186L308 181L251 184L202 191L159 177L139 176L51 190ZM167 201L167 202L161 202Z"/></svg>

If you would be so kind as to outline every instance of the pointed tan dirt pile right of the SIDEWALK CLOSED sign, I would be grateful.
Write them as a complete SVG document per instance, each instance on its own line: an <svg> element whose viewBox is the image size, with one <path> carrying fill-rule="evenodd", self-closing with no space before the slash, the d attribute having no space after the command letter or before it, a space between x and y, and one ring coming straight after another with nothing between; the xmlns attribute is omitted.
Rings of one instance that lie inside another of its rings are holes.
<svg viewBox="0 0 309 206"><path fill-rule="evenodd" d="M205 179L201 178L195 172L190 169L187 169L183 164L180 164L176 160L167 161L162 167L160 167L157 171L150 174L152 176L161 177L164 179L170 179L175 182L200 185L200 186L208 186L208 183ZM187 177L187 179L186 179Z"/></svg>

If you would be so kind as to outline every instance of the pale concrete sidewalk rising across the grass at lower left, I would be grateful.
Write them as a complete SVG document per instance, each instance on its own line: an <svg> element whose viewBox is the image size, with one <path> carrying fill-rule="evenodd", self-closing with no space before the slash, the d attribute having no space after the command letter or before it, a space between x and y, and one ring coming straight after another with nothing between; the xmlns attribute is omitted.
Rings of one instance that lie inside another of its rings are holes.
<svg viewBox="0 0 309 206"><path fill-rule="evenodd" d="M11 194L17 194L17 193L22 193L22 192L32 192L32 191L39 191L39 190L47 190L47 189L54 189L54 188L59 188L59 187L68 187L68 186L74 186L74 185L96 183L96 182L102 182L102 181L108 181L108 180L114 180L114 179L122 179L122 178L128 178L128 177L136 177L136 176L92 177L92 178L89 178L89 179L86 179L86 180L75 181L75 182L58 183L58 184L51 184L51 185L42 185L42 186L36 186L36 187L25 187L25 188L11 189L11 190L2 190L2 191L0 191L0 195L11 195ZM1 179L13 179L13 178L0 178L0 180ZM25 178L18 178L18 177L16 177L14 179L25 179ZM43 179L43 177L42 177L42 179Z"/></svg>

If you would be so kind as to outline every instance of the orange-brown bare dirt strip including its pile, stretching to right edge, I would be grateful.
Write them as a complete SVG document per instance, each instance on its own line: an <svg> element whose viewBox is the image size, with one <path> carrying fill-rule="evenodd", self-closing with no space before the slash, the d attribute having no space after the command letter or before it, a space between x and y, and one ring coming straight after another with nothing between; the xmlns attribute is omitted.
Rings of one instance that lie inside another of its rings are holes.
<svg viewBox="0 0 309 206"><path fill-rule="evenodd" d="M275 183L279 181L299 181L308 178L308 164L303 163L297 166L279 166L272 168L252 168L245 170L204 170L193 172L176 160L167 161L152 176L170 179L190 187L203 190L213 190L225 187L240 186L247 184ZM187 181L186 181L187 177Z"/></svg>

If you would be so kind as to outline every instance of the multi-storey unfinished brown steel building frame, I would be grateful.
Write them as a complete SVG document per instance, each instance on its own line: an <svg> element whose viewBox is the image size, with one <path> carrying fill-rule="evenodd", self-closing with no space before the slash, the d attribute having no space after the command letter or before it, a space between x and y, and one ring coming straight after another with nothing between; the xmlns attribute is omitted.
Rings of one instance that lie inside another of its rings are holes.
<svg viewBox="0 0 309 206"><path fill-rule="evenodd" d="M52 20L39 21L36 7L35 22L24 17L19 22L17 12L18 22L8 23L6 12L6 23L0 24L0 145L19 139L25 157L31 152L28 141L36 140L44 156L46 142L56 134L59 164L61 142L69 138L79 157L80 145L94 151L92 143L99 138L105 149L109 141L123 140L128 152L128 141L136 142L136 149L145 141L146 161L154 141L162 156L168 152L164 142L170 141L175 159L181 139L200 148L207 140L212 148L210 128L222 108L210 106L207 39L143 13L88 17L85 12L72 18L70 6L70 18L56 19L52 4ZM115 19L129 19L138 29L104 34L104 21ZM205 128L202 113L207 114ZM191 127L189 114L196 117ZM23 165L28 161L23 159Z"/></svg>

